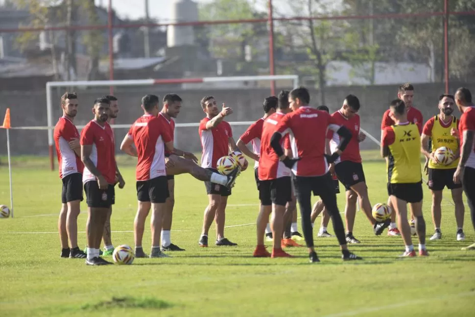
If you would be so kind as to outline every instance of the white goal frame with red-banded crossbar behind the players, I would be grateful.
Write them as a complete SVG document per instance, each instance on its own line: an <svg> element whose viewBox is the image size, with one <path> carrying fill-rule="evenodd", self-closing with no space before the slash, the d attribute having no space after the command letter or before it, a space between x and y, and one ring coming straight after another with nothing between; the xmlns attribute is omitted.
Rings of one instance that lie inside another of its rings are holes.
<svg viewBox="0 0 475 317"><path fill-rule="evenodd" d="M124 80L83 80L83 81L49 81L46 83L46 106L48 119L48 152L51 171L54 171L54 118L52 89L58 87L120 87L120 86L154 86L166 84L199 84L222 83L239 81L274 81L290 80L293 88L299 86L298 75L261 75L261 76L229 76L229 77L202 77L202 78L169 78L169 79L124 79ZM219 89L219 88L218 88ZM229 122L231 125L252 124L253 122ZM131 124L113 124L112 128L128 128ZM198 126L199 123L177 123L176 127ZM83 126L77 126L83 128ZM26 129L44 129L45 127L22 127Z"/></svg>

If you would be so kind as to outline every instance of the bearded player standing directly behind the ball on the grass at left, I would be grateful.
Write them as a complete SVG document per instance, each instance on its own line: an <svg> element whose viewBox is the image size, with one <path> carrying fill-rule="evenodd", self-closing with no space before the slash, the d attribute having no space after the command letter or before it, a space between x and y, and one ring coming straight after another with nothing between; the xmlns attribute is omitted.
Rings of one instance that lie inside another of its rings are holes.
<svg viewBox="0 0 475 317"><path fill-rule="evenodd" d="M81 160L84 164L82 180L88 204L87 265L112 264L99 257L104 224L115 195L116 174L122 177L115 159L114 136L107 123L109 105L109 99L97 98L93 108L95 117L81 132Z"/></svg>

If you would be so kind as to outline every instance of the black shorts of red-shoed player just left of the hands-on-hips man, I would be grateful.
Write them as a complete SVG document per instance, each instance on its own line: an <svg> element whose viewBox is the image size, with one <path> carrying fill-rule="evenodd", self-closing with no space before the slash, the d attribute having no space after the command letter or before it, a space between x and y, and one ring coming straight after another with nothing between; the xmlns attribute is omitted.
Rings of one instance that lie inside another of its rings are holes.
<svg viewBox="0 0 475 317"><path fill-rule="evenodd" d="M276 179L261 180L259 190L259 199L262 206L271 204L285 206L287 202L292 201L292 181L290 176L279 177Z"/></svg>

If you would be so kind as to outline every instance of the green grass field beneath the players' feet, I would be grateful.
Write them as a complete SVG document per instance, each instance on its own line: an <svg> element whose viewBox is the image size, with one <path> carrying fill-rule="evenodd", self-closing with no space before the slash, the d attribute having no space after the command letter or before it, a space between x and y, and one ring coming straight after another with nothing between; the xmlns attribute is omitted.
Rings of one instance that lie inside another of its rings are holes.
<svg viewBox="0 0 475 317"><path fill-rule="evenodd" d="M372 204L387 199L385 167L376 157L366 153L364 163ZM0 203L9 205L8 167L0 159ZM132 160L118 161L127 183L116 189L112 240L133 247L135 169ZM239 176L226 213L225 234L239 245L200 248L208 202L204 185L179 175L172 241L186 251L170 252L166 259L136 259L132 266L88 267L84 260L59 257L61 182L56 171L48 171L48 160L15 158L13 184L15 218L0 219L0 316L474 316L475 252L460 249L473 243L474 230L467 210L466 241L455 241L448 192L442 203L444 236L427 242L428 258L398 258L402 239L386 231L375 237L359 212L354 234L362 243L350 249L364 261L343 263L336 238L316 238L318 218L315 245L322 262L309 264L306 248L286 249L296 256L291 259L252 257L258 195L250 170ZM424 195L429 237L427 189ZM344 195L338 202L343 211ZM84 247L86 203L81 207ZM210 242L213 237L214 225ZM149 230L143 239L148 253Z"/></svg>

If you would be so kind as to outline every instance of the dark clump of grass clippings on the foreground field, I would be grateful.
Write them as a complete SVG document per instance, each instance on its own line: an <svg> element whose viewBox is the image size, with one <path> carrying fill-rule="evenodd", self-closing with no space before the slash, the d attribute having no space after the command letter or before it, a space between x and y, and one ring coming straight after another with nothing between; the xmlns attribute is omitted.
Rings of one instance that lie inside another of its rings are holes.
<svg viewBox="0 0 475 317"><path fill-rule="evenodd" d="M140 309L166 309L173 306L166 301L156 298L112 297L112 300L101 301L96 304L82 306L84 310L99 310L112 308L140 308Z"/></svg>

